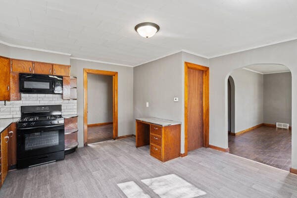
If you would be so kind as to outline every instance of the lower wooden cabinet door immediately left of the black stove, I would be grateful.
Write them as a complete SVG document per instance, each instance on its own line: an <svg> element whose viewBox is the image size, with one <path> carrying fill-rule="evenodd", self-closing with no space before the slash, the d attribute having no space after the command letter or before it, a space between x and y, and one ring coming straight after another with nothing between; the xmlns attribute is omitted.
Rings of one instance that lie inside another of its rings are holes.
<svg viewBox="0 0 297 198"><path fill-rule="evenodd" d="M16 165L16 123L12 123L7 128L7 134L9 137L8 141L8 169L11 166Z"/></svg>

